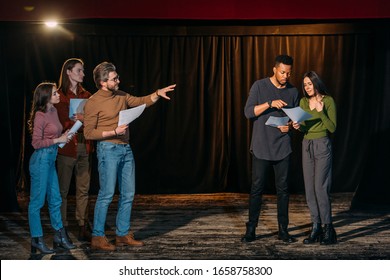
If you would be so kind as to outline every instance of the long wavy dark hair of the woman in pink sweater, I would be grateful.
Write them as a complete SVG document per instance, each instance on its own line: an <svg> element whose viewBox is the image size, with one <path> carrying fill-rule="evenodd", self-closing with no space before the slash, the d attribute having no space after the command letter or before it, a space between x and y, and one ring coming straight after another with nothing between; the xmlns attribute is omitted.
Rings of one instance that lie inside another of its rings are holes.
<svg viewBox="0 0 390 280"><path fill-rule="evenodd" d="M34 119L37 112L46 112L47 103L49 103L53 87L56 87L55 83L43 82L37 85L34 90L33 101L31 104L30 117L27 121L28 131L33 134L34 130Z"/></svg>

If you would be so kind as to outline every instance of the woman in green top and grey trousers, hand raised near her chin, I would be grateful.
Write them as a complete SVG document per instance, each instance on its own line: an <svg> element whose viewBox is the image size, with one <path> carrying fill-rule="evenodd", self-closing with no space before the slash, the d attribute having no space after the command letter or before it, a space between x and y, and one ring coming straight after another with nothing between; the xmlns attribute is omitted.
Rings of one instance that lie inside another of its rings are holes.
<svg viewBox="0 0 390 280"><path fill-rule="evenodd" d="M295 129L304 133L302 141L302 167L306 201L313 226L304 244L320 242L329 245L337 242L332 225L329 192L332 184L332 143L329 133L336 130L336 105L327 95L324 83L314 71L303 76L304 97L299 106L312 115ZM324 228L322 228L322 224Z"/></svg>

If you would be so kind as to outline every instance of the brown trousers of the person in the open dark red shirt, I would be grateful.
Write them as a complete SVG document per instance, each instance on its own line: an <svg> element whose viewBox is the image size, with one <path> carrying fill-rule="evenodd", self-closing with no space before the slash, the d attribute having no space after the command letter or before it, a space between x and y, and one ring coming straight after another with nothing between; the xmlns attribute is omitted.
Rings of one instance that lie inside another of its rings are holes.
<svg viewBox="0 0 390 280"><path fill-rule="evenodd" d="M69 187L74 172L76 183L76 220L79 226L88 221L88 197L91 178L91 155L87 154L85 144L77 145L77 158L58 155L57 172L62 198L61 215L64 226L68 225L67 206Z"/></svg>

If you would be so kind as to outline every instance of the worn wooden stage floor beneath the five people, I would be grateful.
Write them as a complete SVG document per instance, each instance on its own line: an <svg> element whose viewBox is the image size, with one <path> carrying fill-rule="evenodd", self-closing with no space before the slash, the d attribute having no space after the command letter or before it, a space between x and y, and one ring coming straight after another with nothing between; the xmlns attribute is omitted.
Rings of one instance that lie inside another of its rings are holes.
<svg viewBox="0 0 390 280"><path fill-rule="evenodd" d="M91 197L91 216L96 197ZM390 211L350 211L351 193L332 195L338 243L330 246L303 245L310 228L303 195L290 197L290 233L298 242L277 240L276 197L265 195L257 240L242 243L247 219L247 194L136 195L132 230L144 247L114 252L91 250L77 241L74 198L69 199L69 234L77 249L52 255L30 255L27 219L28 199L20 200L21 212L0 213L0 257L2 260L388 260L390 259ZM116 200L107 218L107 237L115 239ZM51 247L53 231L46 208L42 213L45 240Z"/></svg>

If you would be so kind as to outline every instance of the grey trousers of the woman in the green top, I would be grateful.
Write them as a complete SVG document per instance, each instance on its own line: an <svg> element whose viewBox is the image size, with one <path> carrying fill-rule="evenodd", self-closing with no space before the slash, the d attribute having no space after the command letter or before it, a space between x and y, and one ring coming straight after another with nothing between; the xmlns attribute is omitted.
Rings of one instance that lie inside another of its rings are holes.
<svg viewBox="0 0 390 280"><path fill-rule="evenodd" d="M306 201L313 223L332 223L332 143L328 137L302 141Z"/></svg>

